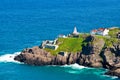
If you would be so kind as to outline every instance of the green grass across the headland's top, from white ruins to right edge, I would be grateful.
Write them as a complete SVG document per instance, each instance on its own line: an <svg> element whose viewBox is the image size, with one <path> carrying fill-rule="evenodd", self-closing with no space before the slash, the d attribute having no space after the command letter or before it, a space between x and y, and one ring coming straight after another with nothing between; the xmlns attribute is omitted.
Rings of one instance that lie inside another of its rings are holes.
<svg viewBox="0 0 120 80"><path fill-rule="evenodd" d="M100 39L103 39L105 41L104 47L112 47L113 43L119 42L119 39L117 38L117 33L120 32L120 28L110 29L108 36L101 36L101 35L94 35L94 40L91 41L85 41L90 34L80 34L78 38L76 37L68 37L68 38L58 38L56 45L59 47L57 50L52 49L45 49L46 51L52 53L52 54L58 54L60 51L64 52L81 52L83 46L87 46L87 44L95 44ZM100 43L97 43L100 44Z"/></svg>

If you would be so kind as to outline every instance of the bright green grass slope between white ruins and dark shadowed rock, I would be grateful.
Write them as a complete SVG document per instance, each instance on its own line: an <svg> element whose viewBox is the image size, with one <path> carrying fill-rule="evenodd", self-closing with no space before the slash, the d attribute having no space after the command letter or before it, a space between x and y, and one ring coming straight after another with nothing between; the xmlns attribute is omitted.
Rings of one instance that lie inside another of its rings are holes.
<svg viewBox="0 0 120 80"><path fill-rule="evenodd" d="M53 55L58 54L60 51L64 52L80 52L82 50L83 38L58 38L57 44L59 45L57 50L45 49L51 52Z"/></svg>

